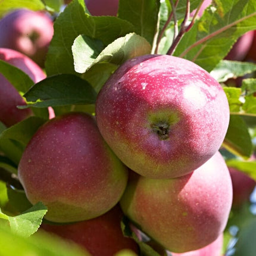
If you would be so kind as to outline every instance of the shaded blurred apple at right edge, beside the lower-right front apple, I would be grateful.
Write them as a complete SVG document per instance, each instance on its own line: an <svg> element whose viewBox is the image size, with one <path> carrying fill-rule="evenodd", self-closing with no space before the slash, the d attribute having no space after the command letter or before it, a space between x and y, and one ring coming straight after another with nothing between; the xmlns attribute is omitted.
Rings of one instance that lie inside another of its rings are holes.
<svg viewBox="0 0 256 256"><path fill-rule="evenodd" d="M252 191L254 191L256 182L254 179L235 168L229 167L229 171L233 185L232 206L233 208L239 208L245 202L249 202L249 197Z"/></svg>

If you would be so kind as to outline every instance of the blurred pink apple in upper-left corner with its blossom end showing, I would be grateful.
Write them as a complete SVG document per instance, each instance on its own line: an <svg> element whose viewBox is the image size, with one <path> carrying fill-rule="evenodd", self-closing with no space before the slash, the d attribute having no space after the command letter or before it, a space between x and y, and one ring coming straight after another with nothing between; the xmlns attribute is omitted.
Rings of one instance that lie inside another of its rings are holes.
<svg viewBox="0 0 256 256"><path fill-rule="evenodd" d="M0 20L0 47L21 52L40 67L44 67L53 34L53 21L42 11L17 9Z"/></svg>

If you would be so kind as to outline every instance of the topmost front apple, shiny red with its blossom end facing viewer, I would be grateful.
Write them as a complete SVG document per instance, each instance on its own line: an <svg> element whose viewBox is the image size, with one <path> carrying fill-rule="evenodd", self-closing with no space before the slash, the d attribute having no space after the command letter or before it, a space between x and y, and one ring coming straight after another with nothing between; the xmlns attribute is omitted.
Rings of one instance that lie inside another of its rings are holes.
<svg viewBox="0 0 256 256"><path fill-rule="evenodd" d="M220 84L191 61L143 55L121 65L96 100L108 145L142 176L183 176L221 146L229 104Z"/></svg>

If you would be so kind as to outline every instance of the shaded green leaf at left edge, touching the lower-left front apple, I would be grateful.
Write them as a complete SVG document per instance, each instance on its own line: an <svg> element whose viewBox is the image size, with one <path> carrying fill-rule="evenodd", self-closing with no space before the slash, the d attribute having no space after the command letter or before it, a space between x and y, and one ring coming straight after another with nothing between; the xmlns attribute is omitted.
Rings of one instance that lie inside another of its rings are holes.
<svg viewBox="0 0 256 256"><path fill-rule="evenodd" d="M20 143L24 148L36 130L38 130L45 121L45 119L40 117L29 117L0 133L0 142L5 143L5 141L8 140L12 142L15 141Z"/></svg>

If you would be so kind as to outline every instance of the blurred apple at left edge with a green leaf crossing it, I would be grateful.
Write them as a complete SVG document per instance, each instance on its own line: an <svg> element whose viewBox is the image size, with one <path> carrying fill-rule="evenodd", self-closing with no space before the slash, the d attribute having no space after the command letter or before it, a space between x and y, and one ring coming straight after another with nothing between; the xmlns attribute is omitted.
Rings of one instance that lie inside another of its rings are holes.
<svg viewBox="0 0 256 256"><path fill-rule="evenodd" d="M46 77L38 64L26 55L14 51L13 49L0 48L0 60L20 68L20 70L28 74L35 83ZM25 105L25 101L20 96L17 89L15 89L2 74L0 74L0 102L0 121L7 127L32 115L32 110L29 108L24 110L17 108L17 105Z"/></svg>

